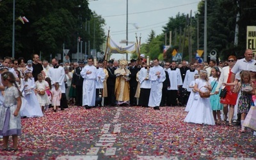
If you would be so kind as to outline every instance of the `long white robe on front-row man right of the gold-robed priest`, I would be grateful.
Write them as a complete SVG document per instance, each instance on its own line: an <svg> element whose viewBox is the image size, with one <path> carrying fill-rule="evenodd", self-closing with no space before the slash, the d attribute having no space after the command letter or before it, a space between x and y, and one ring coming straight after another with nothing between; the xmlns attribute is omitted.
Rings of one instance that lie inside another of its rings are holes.
<svg viewBox="0 0 256 160"><path fill-rule="evenodd" d="M156 72L160 72L160 77L156 76ZM148 79L151 81L151 90L150 90L148 106L149 107L160 106L160 102L162 99L163 82L166 79L163 67L160 67L158 65L150 68Z"/></svg>

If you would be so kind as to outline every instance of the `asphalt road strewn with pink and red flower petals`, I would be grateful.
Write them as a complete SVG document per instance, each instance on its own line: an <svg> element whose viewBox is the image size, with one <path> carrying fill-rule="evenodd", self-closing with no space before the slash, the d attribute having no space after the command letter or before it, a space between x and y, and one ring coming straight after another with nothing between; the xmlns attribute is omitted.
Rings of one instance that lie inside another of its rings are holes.
<svg viewBox="0 0 256 160"><path fill-rule="evenodd" d="M0 152L0 159L255 159L250 129L188 124L184 109L49 109L22 119L19 150Z"/></svg>

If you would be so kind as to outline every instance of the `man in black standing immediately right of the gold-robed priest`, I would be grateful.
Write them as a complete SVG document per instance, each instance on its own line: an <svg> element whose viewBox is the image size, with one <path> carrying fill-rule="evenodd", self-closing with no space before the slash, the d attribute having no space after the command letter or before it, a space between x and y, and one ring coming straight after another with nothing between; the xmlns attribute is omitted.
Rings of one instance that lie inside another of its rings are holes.
<svg viewBox="0 0 256 160"><path fill-rule="evenodd" d="M130 84L130 106L136 106L137 105L137 99L134 97L137 89L138 82L136 81L136 75L140 68L136 66L136 60L131 60L131 67L128 67L131 74L129 77L131 78L129 81Z"/></svg>

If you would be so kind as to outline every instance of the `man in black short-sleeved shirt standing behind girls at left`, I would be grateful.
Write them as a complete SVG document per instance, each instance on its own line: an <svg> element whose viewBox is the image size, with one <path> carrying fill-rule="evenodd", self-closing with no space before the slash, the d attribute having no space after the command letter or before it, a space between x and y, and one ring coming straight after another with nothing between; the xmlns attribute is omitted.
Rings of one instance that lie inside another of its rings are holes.
<svg viewBox="0 0 256 160"><path fill-rule="evenodd" d="M38 61L40 61L38 54L33 54L32 75L35 78L35 81L37 81L37 75L40 73L43 74L43 76L45 77L44 68L41 63L38 63Z"/></svg>

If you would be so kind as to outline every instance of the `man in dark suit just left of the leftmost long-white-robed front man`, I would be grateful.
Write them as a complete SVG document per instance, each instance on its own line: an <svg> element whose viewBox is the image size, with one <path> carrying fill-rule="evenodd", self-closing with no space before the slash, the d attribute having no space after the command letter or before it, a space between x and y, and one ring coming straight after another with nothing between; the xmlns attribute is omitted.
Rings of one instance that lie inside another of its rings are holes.
<svg viewBox="0 0 256 160"><path fill-rule="evenodd" d="M72 77L72 86L73 88L76 88L76 106L83 106L83 77L81 76L81 70L84 67L84 61L79 60L78 61L79 67L76 67L74 69L74 74Z"/></svg>

